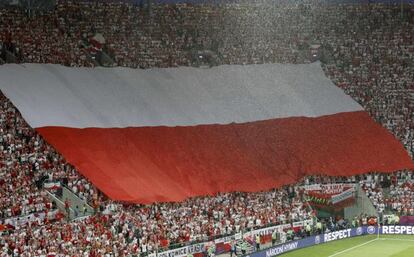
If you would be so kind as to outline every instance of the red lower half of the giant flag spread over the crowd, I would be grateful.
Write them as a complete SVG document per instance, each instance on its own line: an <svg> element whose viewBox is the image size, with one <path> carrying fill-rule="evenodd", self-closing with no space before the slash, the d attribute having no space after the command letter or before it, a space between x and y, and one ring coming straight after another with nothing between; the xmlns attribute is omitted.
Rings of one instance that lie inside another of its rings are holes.
<svg viewBox="0 0 414 257"><path fill-rule="evenodd" d="M43 127L40 134L114 200L180 201L258 191L306 174L413 168L366 112L188 127Z"/></svg>

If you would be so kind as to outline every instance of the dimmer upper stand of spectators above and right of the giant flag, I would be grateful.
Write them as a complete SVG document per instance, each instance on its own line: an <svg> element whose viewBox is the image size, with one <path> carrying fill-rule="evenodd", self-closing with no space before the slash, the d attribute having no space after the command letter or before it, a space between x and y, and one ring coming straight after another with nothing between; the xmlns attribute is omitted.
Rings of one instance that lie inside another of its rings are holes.
<svg viewBox="0 0 414 257"><path fill-rule="evenodd" d="M31 18L0 9L0 41L22 62L87 67L97 52L111 65L137 68L306 63L316 55L327 75L412 152L413 9L307 1L160 4L148 13L139 4L58 1Z"/></svg>

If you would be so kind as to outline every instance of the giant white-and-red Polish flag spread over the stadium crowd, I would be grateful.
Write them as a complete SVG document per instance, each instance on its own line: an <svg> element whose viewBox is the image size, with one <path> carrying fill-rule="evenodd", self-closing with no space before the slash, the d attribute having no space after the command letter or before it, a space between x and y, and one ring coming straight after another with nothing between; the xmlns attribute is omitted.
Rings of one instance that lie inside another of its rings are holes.
<svg viewBox="0 0 414 257"><path fill-rule="evenodd" d="M114 200L180 201L413 167L318 63L3 65L0 78L26 121Z"/></svg>

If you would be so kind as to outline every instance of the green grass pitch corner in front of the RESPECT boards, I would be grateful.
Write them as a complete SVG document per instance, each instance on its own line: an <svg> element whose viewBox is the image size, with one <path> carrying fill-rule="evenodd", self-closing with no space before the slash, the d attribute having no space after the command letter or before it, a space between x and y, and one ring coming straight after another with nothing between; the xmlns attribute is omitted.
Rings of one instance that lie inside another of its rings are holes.
<svg viewBox="0 0 414 257"><path fill-rule="evenodd" d="M361 236L289 252L282 257L414 257L414 236Z"/></svg>

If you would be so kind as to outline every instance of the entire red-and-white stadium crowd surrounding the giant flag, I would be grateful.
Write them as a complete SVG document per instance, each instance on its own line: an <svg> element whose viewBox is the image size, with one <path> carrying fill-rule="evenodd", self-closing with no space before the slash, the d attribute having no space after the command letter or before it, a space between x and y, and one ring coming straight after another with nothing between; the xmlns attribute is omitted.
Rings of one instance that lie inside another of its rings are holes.
<svg viewBox="0 0 414 257"><path fill-rule="evenodd" d="M114 66L193 65L209 50L217 64L306 63L318 55L332 81L414 152L414 12L381 4L325 5L268 2L220 5L139 5L58 1L28 17L0 9L0 53L17 61L91 67L94 51ZM102 43L91 40L97 33ZM270 224L312 217L298 187L261 193L226 193L182 203L123 205L98 190L30 128L0 95L0 221L53 212L43 183L59 181L99 209L66 221L36 219L0 238L0 256L125 256L161 251ZM380 213L414 215L410 171L350 178L306 178L304 184L360 182ZM97 197L99 195L99 197ZM98 199L99 198L99 199ZM363 219L361 219L361 223ZM1 223L1 222L0 222ZM332 226L331 226L332 227Z"/></svg>

